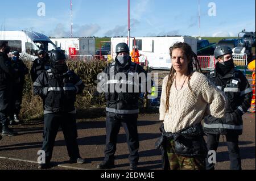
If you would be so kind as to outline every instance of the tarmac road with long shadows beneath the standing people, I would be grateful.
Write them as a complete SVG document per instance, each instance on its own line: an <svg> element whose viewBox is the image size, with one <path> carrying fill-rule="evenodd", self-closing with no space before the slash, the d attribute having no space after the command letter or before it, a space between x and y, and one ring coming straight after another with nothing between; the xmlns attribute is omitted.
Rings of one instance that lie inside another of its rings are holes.
<svg viewBox="0 0 256 181"><path fill-rule="evenodd" d="M160 150L154 148L155 141L160 136L161 123L158 119L158 114L139 116L138 169L161 169ZM243 120L243 135L240 137L242 167L246 170L255 170L255 113L246 113ZM86 163L83 165L67 163L69 158L64 137L62 132L59 132L53 150L52 169L96 169L96 165L104 159L105 119L102 117L101 119L79 120L77 128L80 154L81 157L86 158ZM42 146L43 124L17 125L14 129L20 133L19 136L3 137L0 141L0 170L37 169L37 153ZM123 128L119 132L115 155L115 169L128 169L129 151ZM228 149L222 138L218 148L217 162L216 169L229 169Z"/></svg>

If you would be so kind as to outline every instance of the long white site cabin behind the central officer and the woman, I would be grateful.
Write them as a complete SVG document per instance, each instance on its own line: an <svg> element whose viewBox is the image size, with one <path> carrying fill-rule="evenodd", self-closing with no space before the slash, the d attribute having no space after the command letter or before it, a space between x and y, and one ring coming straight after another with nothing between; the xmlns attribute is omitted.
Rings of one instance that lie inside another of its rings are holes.
<svg viewBox="0 0 256 181"><path fill-rule="evenodd" d="M150 69L170 69L171 58L169 48L177 42L185 42L191 45L193 52L197 52L197 39L187 36L166 36L166 37L131 37L130 52L133 46L137 45L142 56L140 62L148 61ZM115 47L118 43L127 43L127 37L112 37L111 52L115 58Z"/></svg>

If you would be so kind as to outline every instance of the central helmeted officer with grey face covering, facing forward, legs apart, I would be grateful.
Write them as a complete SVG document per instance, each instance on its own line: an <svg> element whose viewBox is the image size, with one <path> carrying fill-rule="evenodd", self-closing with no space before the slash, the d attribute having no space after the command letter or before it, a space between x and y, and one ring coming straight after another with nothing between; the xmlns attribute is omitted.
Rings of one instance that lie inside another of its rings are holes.
<svg viewBox="0 0 256 181"><path fill-rule="evenodd" d="M104 162L97 165L98 169L112 169L114 167L114 154L121 124L125 129L127 145L130 151L130 169L137 169L139 160L139 138L137 131L139 91L135 92L135 89L132 91L123 91L123 89L122 91L111 90L111 87L120 82L122 82L122 86L135 86L135 82L129 81L129 74L143 73L146 77L146 71L144 71L142 66L131 62L129 51L130 49L126 43L119 43L115 51L117 53L115 62L105 68L105 78L100 77L100 81L105 82L106 148ZM115 75L119 73L123 73L125 77L115 79Z"/></svg>

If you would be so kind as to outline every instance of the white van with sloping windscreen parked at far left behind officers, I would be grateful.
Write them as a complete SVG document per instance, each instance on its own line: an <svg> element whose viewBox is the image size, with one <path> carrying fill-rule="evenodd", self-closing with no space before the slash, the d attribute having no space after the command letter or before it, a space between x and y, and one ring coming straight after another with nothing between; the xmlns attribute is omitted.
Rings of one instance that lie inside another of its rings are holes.
<svg viewBox="0 0 256 181"><path fill-rule="evenodd" d="M42 33L32 31L0 31L0 40L8 41L11 52L18 50L22 58L34 61L40 48L50 51L56 46Z"/></svg>

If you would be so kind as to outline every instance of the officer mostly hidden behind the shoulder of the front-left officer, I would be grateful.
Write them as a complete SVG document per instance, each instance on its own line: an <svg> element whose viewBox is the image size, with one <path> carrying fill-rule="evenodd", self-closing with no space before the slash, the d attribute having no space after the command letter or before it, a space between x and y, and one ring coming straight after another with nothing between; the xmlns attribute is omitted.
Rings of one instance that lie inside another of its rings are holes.
<svg viewBox="0 0 256 181"><path fill-rule="evenodd" d="M33 62L30 74L32 82L35 82L36 78L50 67L50 59L48 53L44 49L38 50L38 58Z"/></svg>

